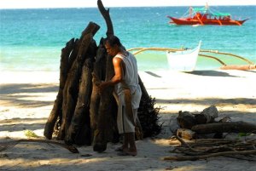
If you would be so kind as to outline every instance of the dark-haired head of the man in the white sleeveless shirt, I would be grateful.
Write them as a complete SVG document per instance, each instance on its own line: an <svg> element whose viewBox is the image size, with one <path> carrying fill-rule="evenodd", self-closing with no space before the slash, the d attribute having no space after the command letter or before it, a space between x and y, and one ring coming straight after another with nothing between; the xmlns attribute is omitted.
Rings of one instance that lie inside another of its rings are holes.
<svg viewBox="0 0 256 171"><path fill-rule="evenodd" d="M122 47L122 44L120 43L119 37L110 36L107 38L105 42L105 48L107 49L109 55L115 56L118 54L120 47Z"/></svg>

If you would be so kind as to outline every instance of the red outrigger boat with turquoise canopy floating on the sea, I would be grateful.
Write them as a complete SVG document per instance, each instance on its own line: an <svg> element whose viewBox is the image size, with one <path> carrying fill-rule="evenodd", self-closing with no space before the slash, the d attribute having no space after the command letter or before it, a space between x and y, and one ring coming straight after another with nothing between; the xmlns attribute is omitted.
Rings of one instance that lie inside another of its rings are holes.
<svg viewBox="0 0 256 171"><path fill-rule="evenodd" d="M218 26L241 26L246 20L232 20L231 15L228 13L219 13L210 9L208 5L203 8L192 8L183 14L181 18L174 18L167 16L171 19L170 23L176 25L218 25Z"/></svg>

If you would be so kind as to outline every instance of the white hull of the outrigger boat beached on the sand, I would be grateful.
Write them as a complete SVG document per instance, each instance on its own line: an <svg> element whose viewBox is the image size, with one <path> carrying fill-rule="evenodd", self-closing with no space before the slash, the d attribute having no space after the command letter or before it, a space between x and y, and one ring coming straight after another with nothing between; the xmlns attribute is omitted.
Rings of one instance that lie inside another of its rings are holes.
<svg viewBox="0 0 256 171"><path fill-rule="evenodd" d="M194 71L200 48L201 41L193 49L175 52L167 51L166 55L170 69L173 71Z"/></svg>

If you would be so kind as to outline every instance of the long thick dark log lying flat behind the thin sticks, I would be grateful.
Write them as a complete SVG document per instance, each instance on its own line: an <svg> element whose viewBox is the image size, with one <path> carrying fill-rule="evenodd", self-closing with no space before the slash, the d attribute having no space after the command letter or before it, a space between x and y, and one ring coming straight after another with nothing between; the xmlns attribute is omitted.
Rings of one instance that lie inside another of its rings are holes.
<svg viewBox="0 0 256 171"><path fill-rule="evenodd" d="M234 122L234 123L207 123L195 125L191 128L197 134L212 133L253 133L256 131L256 125L252 123Z"/></svg>

